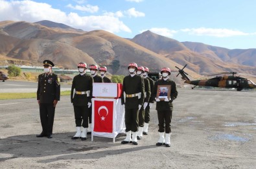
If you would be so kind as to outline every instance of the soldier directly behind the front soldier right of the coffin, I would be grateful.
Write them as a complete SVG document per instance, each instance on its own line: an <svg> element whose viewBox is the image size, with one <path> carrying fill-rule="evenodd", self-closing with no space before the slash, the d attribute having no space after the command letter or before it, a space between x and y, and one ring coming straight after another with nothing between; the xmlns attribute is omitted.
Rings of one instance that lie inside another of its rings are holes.
<svg viewBox="0 0 256 169"><path fill-rule="evenodd" d="M144 74L144 72L145 72L144 67L138 66L137 75L142 76L142 74ZM137 135L138 140L142 139L142 136L143 136L143 128L144 128L144 122L145 122L145 109L146 109L146 106L148 106L148 101L149 101L150 95L151 95L150 83L149 83L148 79L143 77L143 82L145 85L145 92L144 92L145 99L144 99L143 106L139 110L139 132Z"/></svg>

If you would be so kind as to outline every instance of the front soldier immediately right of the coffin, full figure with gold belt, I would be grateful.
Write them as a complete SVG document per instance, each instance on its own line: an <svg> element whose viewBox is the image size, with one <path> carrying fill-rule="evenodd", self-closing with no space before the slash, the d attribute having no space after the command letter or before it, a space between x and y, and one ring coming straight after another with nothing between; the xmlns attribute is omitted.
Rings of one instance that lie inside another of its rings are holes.
<svg viewBox="0 0 256 169"><path fill-rule="evenodd" d="M127 144L132 141L132 144L137 145L137 132L138 132L138 118L139 110L144 101L144 83L141 76L136 75L135 72L138 66L136 63L130 63L128 70L130 75L124 77L122 82L122 105L125 105L125 125L126 125L126 139L122 144ZM131 138L132 132L132 138Z"/></svg>

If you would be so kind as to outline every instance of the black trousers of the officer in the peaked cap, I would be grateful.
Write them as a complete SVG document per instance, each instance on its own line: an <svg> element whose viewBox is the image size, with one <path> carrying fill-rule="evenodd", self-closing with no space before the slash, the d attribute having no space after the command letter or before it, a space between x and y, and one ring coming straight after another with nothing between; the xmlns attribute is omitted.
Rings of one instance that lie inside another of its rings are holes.
<svg viewBox="0 0 256 169"><path fill-rule="evenodd" d="M54 121L55 107L52 103L40 103L40 120L43 134L51 135Z"/></svg>

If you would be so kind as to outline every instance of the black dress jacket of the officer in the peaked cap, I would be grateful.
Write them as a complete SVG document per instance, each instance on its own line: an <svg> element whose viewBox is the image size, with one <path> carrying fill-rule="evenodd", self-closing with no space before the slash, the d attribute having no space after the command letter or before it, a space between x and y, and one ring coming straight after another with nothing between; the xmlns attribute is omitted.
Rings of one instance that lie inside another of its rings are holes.
<svg viewBox="0 0 256 169"><path fill-rule="evenodd" d="M38 75L37 99L40 103L52 103L60 100L60 79L54 73Z"/></svg>

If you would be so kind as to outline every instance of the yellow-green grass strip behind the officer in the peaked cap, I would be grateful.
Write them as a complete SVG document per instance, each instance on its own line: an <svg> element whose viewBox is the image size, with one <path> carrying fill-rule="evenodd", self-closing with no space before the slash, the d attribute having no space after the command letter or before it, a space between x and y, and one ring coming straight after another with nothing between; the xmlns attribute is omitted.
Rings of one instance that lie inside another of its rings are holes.
<svg viewBox="0 0 256 169"><path fill-rule="evenodd" d="M60 95L70 95L71 91L63 91L60 92ZM7 99L29 99L36 98L36 93L1 93L0 100Z"/></svg>

